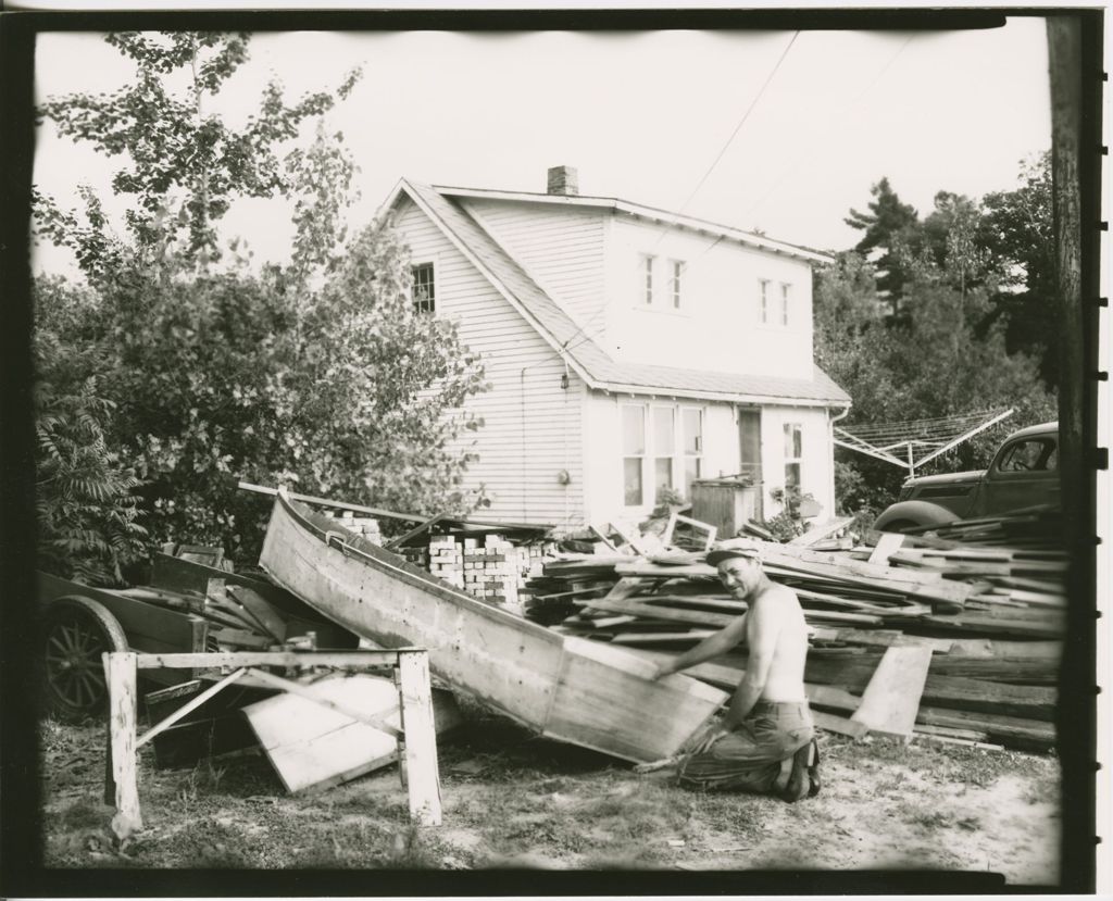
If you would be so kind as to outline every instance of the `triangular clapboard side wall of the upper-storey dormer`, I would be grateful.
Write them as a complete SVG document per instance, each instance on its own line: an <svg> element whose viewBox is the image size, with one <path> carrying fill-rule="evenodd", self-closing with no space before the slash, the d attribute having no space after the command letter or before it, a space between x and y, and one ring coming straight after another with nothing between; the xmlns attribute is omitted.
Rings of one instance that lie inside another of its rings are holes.
<svg viewBox="0 0 1113 901"><path fill-rule="evenodd" d="M599 313L607 211L486 198L462 198L461 204L577 325Z"/></svg>

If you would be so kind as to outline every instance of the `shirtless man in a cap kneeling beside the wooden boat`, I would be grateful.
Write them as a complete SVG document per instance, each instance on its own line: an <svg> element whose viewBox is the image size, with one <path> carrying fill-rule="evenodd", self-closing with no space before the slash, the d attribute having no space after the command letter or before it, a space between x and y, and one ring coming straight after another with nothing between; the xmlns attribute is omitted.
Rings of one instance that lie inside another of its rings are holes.
<svg viewBox="0 0 1113 901"><path fill-rule="evenodd" d="M796 594L769 581L760 547L735 539L707 555L749 610L730 625L658 667L656 677L749 648L746 674L717 729L680 760L680 784L777 794L798 801L819 792L819 754L804 692L808 632Z"/></svg>

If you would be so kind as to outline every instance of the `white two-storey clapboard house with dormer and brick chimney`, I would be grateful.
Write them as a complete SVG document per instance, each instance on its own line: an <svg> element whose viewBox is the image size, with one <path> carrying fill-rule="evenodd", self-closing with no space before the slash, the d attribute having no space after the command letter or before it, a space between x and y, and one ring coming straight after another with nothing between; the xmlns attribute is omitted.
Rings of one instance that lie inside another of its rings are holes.
<svg viewBox="0 0 1113 901"><path fill-rule="evenodd" d="M483 355L483 515L631 522L659 486L747 473L834 513L831 422L850 398L812 359L823 254L626 200L402 179L384 209L412 255L415 305Z"/></svg>

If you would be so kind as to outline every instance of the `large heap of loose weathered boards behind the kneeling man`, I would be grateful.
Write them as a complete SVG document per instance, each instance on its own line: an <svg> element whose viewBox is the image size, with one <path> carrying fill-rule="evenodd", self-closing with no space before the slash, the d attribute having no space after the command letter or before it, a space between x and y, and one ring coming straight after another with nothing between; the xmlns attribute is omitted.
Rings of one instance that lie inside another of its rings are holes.
<svg viewBox="0 0 1113 901"><path fill-rule="evenodd" d="M1068 563L1053 522L1023 513L833 553L762 543L766 572L796 592L811 628L806 680L819 724L1052 747ZM994 543L1005 537L1020 542ZM747 608L700 553L564 555L543 580L531 618L651 657L683 652ZM739 647L687 673L730 690L745 666Z"/></svg>

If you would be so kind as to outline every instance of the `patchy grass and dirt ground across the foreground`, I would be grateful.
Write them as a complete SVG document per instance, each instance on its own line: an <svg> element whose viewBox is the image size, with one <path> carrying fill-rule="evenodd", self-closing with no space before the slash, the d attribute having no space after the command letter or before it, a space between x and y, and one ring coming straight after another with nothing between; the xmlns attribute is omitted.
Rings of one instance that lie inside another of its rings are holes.
<svg viewBox="0 0 1113 901"><path fill-rule="evenodd" d="M50 868L991 871L1058 881L1053 756L820 737L824 788L785 804L690 792L666 771L470 716L440 747L443 824L414 829L396 766L285 793L257 753L156 770L140 754L145 829L119 845L101 802L105 727L41 730Z"/></svg>

